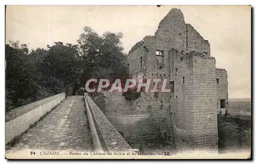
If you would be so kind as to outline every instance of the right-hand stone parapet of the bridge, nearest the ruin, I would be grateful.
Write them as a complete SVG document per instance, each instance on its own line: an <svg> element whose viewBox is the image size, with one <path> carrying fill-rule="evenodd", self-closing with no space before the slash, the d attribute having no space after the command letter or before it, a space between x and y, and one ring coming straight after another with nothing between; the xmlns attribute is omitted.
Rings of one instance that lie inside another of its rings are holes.
<svg viewBox="0 0 256 164"><path fill-rule="evenodd" d="M86 105L95 151L125 152L132 149L90 98L88 93L84 93L84 103Z"/></svg>

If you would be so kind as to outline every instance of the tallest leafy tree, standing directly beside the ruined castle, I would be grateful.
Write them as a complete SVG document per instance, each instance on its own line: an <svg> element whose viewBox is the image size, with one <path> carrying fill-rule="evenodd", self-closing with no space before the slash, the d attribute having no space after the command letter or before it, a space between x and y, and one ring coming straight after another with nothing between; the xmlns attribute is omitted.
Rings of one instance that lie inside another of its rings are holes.
<svg viewBox="0 0 256 164"><path fill-rule="evenodd" d="M83 73L80 79L84 85L90 78L107 78L111 83L127 76L124 63L122 33L105 32L98 35L90 27L84 27L78 39Z"/></svg>

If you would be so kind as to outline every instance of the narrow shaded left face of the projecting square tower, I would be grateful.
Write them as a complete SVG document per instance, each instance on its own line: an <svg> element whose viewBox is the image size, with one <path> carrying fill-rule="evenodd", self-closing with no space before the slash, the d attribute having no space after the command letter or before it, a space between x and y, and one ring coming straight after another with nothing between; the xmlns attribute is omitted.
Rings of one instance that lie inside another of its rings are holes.
<svg viewBox="0 0 256 164"><path fill-rule="evenodd" d="M194 151L193 56L184 56L173 49L170 52L170 61L170 81L174 83L170 110L175 129L175 145L178 152L192 152Z"/></svg>

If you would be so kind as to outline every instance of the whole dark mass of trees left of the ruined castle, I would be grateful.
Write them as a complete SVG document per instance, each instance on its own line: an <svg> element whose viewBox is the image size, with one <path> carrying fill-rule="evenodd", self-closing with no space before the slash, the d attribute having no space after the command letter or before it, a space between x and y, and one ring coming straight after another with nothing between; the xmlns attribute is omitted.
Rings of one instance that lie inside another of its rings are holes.
<svg viewBox="0 0 256 164"><path fill-rule="evenodd" d="M29 51L26 44L10 41L5 52L6 110L60 92L75 95L90 78L124 81L127 72L121 38L121 33L100 36L84 27L76 45L58 41L47 49Z"/></svg>

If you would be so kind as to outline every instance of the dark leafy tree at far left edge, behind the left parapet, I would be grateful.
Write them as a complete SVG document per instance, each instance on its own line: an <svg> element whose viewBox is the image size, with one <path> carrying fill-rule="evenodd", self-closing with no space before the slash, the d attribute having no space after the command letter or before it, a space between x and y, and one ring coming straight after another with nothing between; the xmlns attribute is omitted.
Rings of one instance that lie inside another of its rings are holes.
<svg viewBox="0 0 256 164"><path fill-rule="evenodd" d="M33 80L35 69L30 64L26 44L6 44L6 110L35 101L37 86Z"/></svg>

